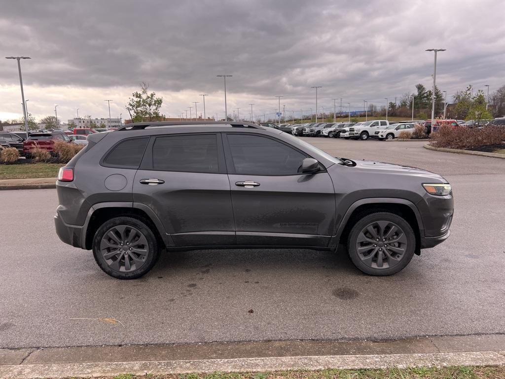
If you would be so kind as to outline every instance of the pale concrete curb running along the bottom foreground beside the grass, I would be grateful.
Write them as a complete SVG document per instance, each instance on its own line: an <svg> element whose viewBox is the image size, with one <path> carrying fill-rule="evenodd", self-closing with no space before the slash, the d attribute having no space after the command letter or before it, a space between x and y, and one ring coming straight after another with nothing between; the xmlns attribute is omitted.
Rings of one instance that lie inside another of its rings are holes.
<svg viewBox="0 0 505 379"><path fill-rule="evenodd" d="M2 378L63 378L89 376L180 374L189 372L255 372L280 370L321 370L440 367L440 366L501 366L505 357L498 352L326 355L269 358L197 359L171 361L20 364L0 366Z"/></svg>

